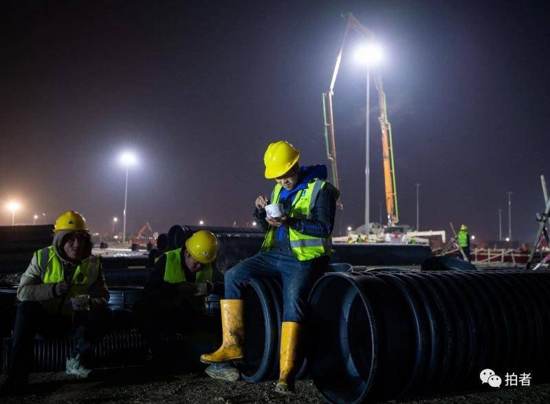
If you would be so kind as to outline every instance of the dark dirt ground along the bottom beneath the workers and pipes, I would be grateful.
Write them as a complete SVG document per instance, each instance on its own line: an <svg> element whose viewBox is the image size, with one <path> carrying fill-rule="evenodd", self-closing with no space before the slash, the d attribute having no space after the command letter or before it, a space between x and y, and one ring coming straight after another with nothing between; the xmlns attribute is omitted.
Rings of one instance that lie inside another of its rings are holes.
<svg viewBox="0 0 550 404"><path fill-rule="evenodd" d="M3 381L4 376L1 377ZM64 372L32 374L30 391L3 403L324 403L312 381L298 381L296 393L273 391L274 381L250 384L210 379L203 373L159 374L143 368L98 370L87 380ZM550 385L493 389L393 403L549 403ZM485 390L485 389L483 389Z"/></svg>

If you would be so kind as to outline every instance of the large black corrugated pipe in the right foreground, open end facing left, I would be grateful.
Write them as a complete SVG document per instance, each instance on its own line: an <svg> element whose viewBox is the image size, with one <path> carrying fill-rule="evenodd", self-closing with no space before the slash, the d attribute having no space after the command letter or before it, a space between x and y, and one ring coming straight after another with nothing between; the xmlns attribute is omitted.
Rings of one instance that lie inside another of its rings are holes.
<svg viewBox="0 0 550 404"><path fill-rule="evenodd" d="M550 272L370 271L311 291L308 362L333 403L480 388L487 368L549 379Z"/></svg>

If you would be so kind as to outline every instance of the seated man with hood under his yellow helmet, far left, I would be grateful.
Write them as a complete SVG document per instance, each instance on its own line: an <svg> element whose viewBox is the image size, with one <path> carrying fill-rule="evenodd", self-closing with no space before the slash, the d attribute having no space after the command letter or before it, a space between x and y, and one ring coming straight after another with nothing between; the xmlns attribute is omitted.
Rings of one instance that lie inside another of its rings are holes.
<svg viewBox="0 0 550 404"><path fill-rule="evenodd" d="M91 372L87 356L113 322L101 261L91 254L91 248L84 216L69 210L56 220L52 245L32 256L17 289L21 303L3 394L26 389L36 333L46 338L76 337L66 371L78 377L87 377Z"/></svg>

